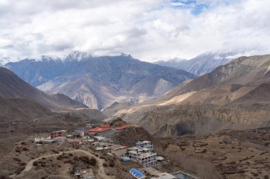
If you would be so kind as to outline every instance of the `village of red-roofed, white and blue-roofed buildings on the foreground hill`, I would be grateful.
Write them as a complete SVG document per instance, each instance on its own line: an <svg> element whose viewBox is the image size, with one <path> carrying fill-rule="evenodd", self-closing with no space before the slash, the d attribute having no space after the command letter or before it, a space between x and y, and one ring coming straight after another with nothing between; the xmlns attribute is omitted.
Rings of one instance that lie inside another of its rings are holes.
<svg viewBox="0 0 270 179"><path fill-rule="evenodd" d="M151 141L139 140L133 146L117 144L113 137L119 132L125 132L131 125L121 125L113 127L108 122L102 124L87 124L75 130L58 130L42 136L36 136L33 140L37 147L55 144L58 142L68 142L84 146L84 149L91 150L97 154L107 155L114 160L121 162L121 168L129 173L132 178L151 179L175 179L175 178L196 178L183 173L167 173L158 171L157 166L162 166L170 161L155 153L155 148ZM82 170L76 167L74 178L92 179L95 178L92 170Z"/></svg>

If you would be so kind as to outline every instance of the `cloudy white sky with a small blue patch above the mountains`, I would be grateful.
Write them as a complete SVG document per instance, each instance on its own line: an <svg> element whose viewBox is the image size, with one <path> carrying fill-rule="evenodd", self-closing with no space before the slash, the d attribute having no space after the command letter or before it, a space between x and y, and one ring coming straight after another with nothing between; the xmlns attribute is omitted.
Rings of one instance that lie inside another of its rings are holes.
<svg viewBox="0 0 270 179"><path fill-rule="evenodd" d="M0 0L0 58L270 54L269 0Z"/></svg>

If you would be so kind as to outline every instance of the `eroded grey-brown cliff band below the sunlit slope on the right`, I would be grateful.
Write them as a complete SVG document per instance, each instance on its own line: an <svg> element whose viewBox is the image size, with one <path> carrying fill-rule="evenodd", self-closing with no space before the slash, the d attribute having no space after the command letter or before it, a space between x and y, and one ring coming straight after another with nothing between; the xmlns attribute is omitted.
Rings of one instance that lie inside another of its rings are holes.
<svg viewBox="0 0 270 179"><path fill-rule="evenodd" d="M270 126L266 106L169 105L122 113L127 122L139 124L156 136L208 134L220 129Z"/></svg>

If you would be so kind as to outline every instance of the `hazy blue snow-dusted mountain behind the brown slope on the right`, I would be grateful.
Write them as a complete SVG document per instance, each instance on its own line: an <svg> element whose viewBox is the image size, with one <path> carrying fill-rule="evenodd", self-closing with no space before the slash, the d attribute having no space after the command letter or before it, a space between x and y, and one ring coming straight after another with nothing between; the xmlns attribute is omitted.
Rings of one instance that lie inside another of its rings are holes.
<svg viewBox="0 0 270 179"><path fill-rule="evenodd" d="M164 67L183 69L200 76L210 73L215 68L227 64L236 57L237 52L207 52L190 60L175 58L168 61L158 61L156 64Z"/></svg>

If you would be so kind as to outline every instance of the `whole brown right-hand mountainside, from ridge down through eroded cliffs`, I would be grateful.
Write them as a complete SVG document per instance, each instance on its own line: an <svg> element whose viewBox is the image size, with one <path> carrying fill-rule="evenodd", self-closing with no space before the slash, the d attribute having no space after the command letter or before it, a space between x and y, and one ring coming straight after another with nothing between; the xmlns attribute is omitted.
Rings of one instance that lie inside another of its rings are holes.
<svg viewBox="0 0 270 179"><path fill-rule="evenodd" d="M161 136L269 127L269 84L270 55L239 57L116 116Z"/></svg>

